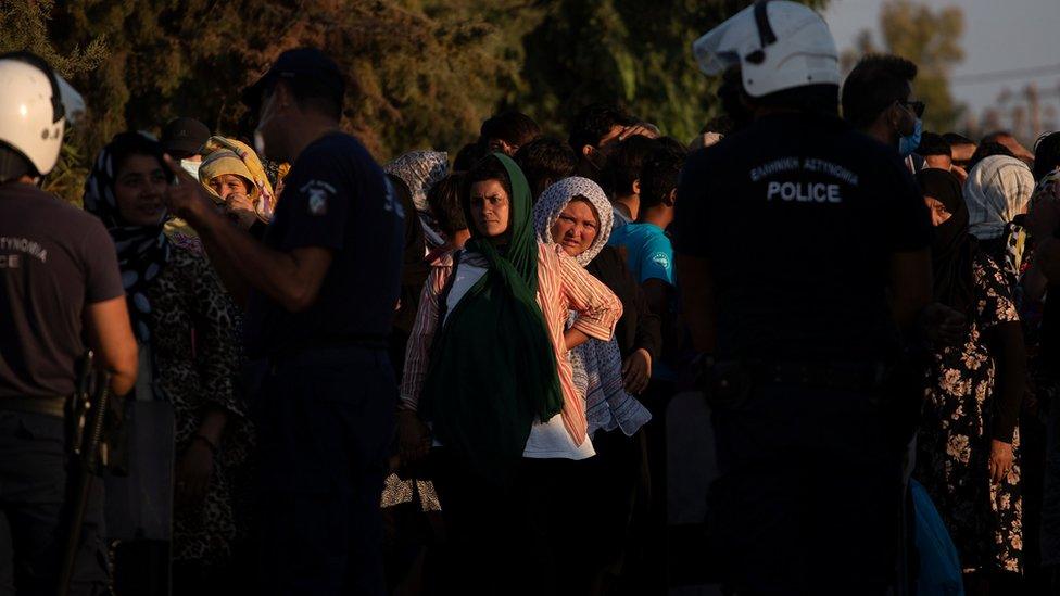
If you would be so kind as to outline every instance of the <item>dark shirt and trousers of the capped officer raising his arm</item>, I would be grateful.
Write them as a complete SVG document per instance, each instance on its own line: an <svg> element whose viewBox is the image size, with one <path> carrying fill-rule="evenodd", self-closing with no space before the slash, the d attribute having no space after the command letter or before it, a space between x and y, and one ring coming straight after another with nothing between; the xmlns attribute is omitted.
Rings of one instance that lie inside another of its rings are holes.
<svg viewBox="0 0 1060 596"><path fill-rule="evenodd" d="M403 210L367 150L339 132L302 151L285 188L265 243L330 249L333 261L305 310L261 293L248 306L247 350L264 372L262 591L382 594L379 498L396 405L387 340Z"/></svg>

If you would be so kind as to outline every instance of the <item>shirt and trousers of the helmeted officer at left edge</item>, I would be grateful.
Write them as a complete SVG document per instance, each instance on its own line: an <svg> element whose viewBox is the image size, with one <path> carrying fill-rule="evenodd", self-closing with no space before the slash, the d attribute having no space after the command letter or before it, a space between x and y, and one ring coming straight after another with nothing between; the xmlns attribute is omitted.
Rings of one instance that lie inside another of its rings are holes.
<svg viewBox="0 0 1060 596"><path fill-rule="evenodd" d="M125 295L99 219L38 188L0 185L0 592L54 593L65 545L63 404L86 307ZM92 485L72 593L106 586L102 483Z"/></svg>

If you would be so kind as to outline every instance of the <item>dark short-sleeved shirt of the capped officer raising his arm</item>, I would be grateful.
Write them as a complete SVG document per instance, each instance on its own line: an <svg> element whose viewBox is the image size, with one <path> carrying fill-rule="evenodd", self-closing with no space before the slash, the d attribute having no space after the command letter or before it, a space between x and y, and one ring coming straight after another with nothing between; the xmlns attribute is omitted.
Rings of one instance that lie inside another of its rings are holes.
<svg viewBox="0 0 1060 596"><path fill-rule="evenodd" d="M355 138L325 136L299 155L283 181L265 244L332 252L316 302L290 313L252 292L248 354L384 340L398 302L404 210L382 169Z"/></svg>

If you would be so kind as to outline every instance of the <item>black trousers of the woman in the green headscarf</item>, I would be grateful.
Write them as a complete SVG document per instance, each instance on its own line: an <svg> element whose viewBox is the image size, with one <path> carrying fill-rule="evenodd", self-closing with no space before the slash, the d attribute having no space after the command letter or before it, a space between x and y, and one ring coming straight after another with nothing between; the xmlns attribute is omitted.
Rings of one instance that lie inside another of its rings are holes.
<svg viewBox="0 0 1060 596"><path fill-rule="evenodd" d="M439 594L586 595L590 562L589 460L530 459L501 487L445 447L434 449L434 489L449 545Z"/></svg>

